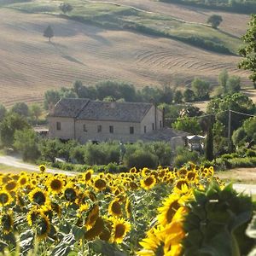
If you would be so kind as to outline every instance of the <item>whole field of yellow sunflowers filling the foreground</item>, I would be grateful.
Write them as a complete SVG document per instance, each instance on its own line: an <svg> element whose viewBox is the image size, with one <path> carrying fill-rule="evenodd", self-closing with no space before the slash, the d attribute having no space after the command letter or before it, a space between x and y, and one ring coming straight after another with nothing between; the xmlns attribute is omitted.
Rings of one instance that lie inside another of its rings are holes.
<svg viewBox="0 0 256 256"><path fill-rule="evenodd" d="M256 255L253 203L212 167L0 174L0 255Z"/></svg>

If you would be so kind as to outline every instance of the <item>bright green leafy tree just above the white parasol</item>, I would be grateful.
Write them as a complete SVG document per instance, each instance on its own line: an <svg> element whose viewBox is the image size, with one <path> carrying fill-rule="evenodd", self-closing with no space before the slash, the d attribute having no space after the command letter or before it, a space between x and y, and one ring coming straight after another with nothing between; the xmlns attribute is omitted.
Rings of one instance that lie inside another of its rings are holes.
<svg viewBox="0 0 256 256"><path fill-rule="evenodd" d="M198 119L185 116L183 118L177 118L172 124L172 128L178 131L186 131L191 134L201 133L201 126Z"/></svg>

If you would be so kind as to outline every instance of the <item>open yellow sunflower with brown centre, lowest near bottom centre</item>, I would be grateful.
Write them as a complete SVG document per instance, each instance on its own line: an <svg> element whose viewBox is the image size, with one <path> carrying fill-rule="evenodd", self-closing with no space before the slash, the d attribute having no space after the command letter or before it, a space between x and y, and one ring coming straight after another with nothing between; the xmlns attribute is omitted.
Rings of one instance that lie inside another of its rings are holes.
<svg viewBox="0 0 256 256"><path fill-rule="evenodd" d="M112 218L112 236L111 241L120 243L124 240L126 234L131 230L131 224L124 218Z"/></svg>

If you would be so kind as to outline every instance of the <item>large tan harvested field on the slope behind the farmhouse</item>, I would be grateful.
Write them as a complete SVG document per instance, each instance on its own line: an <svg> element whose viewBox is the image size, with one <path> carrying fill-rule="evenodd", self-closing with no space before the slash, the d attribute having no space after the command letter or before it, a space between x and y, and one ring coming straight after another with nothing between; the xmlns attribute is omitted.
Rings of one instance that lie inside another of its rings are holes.
<svg viewBox="0 0 256 256"><path fill-rule="evenodd" d="M149 2L148 8L155 4ZM236 56L51 15L11 9L0 9L0 15L0 102L7 107L15 102L42 102L45 90L71 86L76 79L84 84L119 79L140 87L174 84L183 78L183 84L178 85L184 86L195 75L216 83L218 73L225 68L249 83L248 73L236 68L240 60ZM42 36L49 24L55 31L52 43Z"/></svg>

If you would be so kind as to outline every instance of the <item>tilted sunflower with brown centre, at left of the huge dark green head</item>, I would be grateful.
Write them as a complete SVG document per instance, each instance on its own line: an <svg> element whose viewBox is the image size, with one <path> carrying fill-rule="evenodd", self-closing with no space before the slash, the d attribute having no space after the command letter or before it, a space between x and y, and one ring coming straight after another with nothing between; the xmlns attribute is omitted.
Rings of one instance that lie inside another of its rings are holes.
<svg viewBox="0 0 256 256"><path fill-rule="evenodd" d="M177 209L181 206L182 200L180 195L171 194L168 198L163 202L163 206L158 208L158 212L160 212L157 216L157 219L160 224L165 226L172 222L172 218L176 213Z"/></svg>

